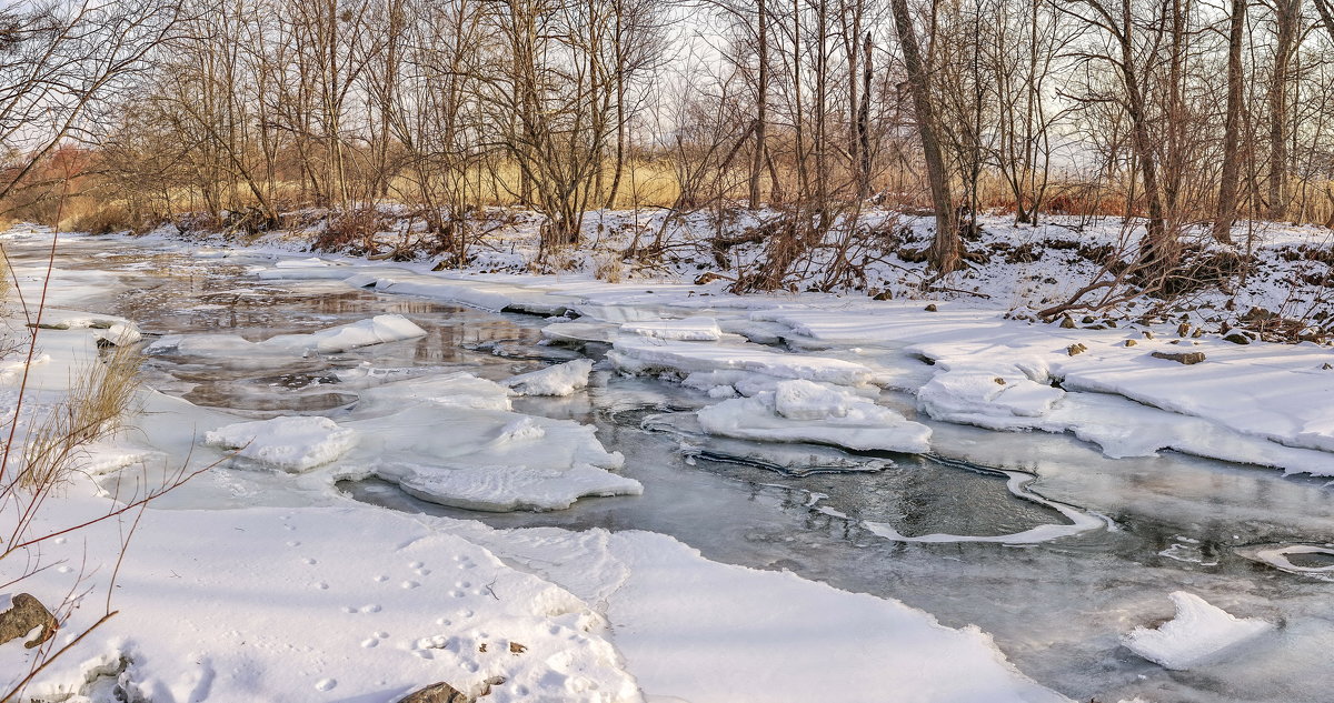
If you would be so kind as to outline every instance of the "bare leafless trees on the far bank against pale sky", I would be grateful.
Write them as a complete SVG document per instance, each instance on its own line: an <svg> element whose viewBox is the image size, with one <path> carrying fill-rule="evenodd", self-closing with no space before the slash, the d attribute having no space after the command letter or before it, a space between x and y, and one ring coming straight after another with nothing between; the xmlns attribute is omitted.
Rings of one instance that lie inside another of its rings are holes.
<svg viewBox="0 0 1334 703"><path fill-rule="evenodd" d="M39 75L89 12L116 63ZM555 249L600 208L767 206L820 240L875 201L934 213L940 272L992 209L1139 217L1170 270L1193 226L1334 221L1330 0L45 0L0 25L11 210L77 144L131 222L392 201L442 250L488 205Z"/></svg>

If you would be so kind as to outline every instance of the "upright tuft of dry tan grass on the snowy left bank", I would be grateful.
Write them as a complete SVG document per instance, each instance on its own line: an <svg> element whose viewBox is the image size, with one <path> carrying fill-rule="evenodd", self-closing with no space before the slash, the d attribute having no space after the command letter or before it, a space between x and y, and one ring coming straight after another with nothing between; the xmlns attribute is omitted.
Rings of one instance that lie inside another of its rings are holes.
<svg viewBox="0 0 1334 703"><path fill-rule="evenodd" d="M19 485L49 489L68 479L87 445L121 429L139 385L141 355L132 345L93 361L68 397L28 431Z"/></svg>

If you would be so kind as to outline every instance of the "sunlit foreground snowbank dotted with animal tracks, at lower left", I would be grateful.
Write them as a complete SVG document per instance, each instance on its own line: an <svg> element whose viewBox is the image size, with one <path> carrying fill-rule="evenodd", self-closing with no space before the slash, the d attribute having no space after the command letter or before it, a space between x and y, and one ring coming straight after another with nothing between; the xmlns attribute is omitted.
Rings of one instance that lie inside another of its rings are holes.
<svg viewBox="0 0 1334 703"><path fill-rule="evenodd" d="M115 525L93 537L113 546ZM79 563L76 542L51 557ZM57 646L96 619L100 606L88 606ZM438 680L479 692L496 676L506 683L488 700L643 700L606 619L579 598L460 537L363 506L151 511L116 607L28 694L79 694L91 668L124 659L129 690L151 700L396 700ZM0 648L0 683L27 656Z"/></svg>

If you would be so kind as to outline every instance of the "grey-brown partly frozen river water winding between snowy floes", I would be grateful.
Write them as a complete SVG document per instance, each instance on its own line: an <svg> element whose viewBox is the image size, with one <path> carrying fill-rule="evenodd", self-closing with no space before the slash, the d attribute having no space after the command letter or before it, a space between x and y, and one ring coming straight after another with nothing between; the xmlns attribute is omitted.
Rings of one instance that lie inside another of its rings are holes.
<svg viewBox="0 0 1334 703"><path fill-rule="evenodd" d="M16 262L41 254L23 242L8 250ZM261 340L380 313L404 314L430 333L281 369L256 369L247 359L145 359L148 385L248 417L347 406L356 393L342 391L332 371L366 361L500 379L578 355L538 344L547 324L540 317L252 276L252 266L269 264L259 256L193 258L183 248L88 238L63 244L56 261L63 269L120 272L128 288L92 293L79 308L135 320L149 340L205 332ZM592 345L583 353L596 358L602 352ZM595 373L587 394L515 401L516 411L595 425L606 447L624 454L623 473L643 483L642 497L583 499L558 513L486 514L422 502L376 479L339 487L386 510L495 527L664 533L715 561L784 569L895 598L943 624L980 627L1019 670L1078 700L1334 700L1326 656L1334 651L1334 583L1254 558L1273 545L1334 541L1327 481L1173 453L1107 459L1066 435L994 433L927 418L916 419L932 427L935 455L846 454L842 461L858 470L798 475L763 461L727 459L744 454L735 442L711 451L710 439L688 431L688 413L708 402L679 385L610 371ZM882 402L912 413L911 398L886 393ZM1053 506L1007 489L1015 473L1037 477L1025 490L1098 515L1107 526L1025 546L906 543L863 526L875 521L904 535L987 537L1065 522ZM1293 555L1291 563L1330 562L1311 551ZM1118 638L1170 618L1167 594L1175 590L1279 627L1217 663L1167 671Z"/></svg>

